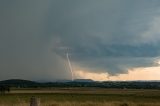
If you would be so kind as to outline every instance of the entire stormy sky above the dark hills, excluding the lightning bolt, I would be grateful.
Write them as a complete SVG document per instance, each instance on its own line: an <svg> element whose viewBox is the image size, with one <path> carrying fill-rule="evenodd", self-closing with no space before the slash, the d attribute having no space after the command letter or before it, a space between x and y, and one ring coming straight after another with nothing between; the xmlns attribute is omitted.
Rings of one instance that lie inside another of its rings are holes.
<svg viewBox="0 0 160 106"><path fill-rule="evenodd" d="M1 0L0 80L160 80L159 0Z"/></svg>

